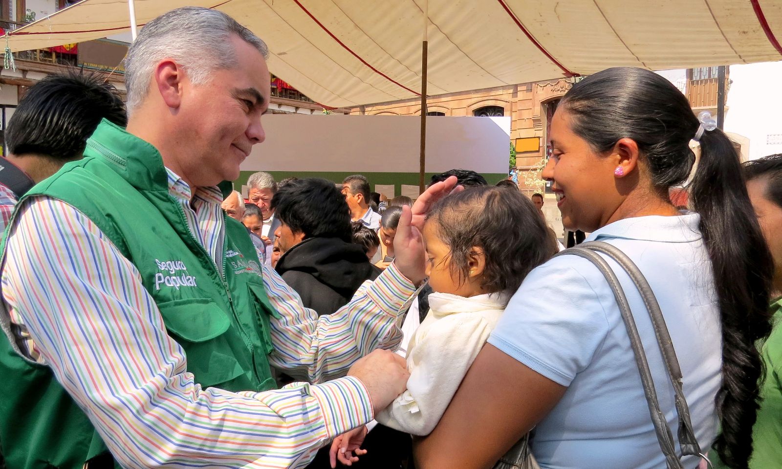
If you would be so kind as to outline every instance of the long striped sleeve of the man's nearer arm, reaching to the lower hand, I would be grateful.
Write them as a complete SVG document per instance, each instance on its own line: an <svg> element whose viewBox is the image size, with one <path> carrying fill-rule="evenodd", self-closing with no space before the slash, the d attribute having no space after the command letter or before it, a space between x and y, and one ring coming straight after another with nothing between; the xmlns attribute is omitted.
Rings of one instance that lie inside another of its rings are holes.
<svg viewBox="0 0 782 469"><path fill-rule="evenodd" d="M355 377L261 393L195 384L138 270L59 200L22 207L2 293L123 467L303 467L371 420Z"/></svg>

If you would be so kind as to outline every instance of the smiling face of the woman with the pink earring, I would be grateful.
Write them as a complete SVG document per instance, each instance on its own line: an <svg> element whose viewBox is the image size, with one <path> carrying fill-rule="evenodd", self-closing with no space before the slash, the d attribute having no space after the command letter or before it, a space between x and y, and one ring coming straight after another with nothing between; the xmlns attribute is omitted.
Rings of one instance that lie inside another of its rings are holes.
<svg viewBox="0 0 782 469"><path fill-rule="evenodd" d="M618 158L604 157L574 132L568 112L559 108L551 120L551 158L543 179L551 181L566 229L592 232L608 222L622 199L614 170Z"/></svg>

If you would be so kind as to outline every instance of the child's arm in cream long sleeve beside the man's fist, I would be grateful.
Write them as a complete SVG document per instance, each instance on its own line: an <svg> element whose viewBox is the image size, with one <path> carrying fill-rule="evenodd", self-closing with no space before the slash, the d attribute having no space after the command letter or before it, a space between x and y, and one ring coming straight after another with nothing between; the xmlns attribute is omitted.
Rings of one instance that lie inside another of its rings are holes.
<svg viewBox="0 0 782 469"><path fill-rule="evenodd" d="M382 409L375 420L412 435L429 435L486 344L491 329L479 314L438 319L420 341L416 337L407 355L407 391Z"/></svg>

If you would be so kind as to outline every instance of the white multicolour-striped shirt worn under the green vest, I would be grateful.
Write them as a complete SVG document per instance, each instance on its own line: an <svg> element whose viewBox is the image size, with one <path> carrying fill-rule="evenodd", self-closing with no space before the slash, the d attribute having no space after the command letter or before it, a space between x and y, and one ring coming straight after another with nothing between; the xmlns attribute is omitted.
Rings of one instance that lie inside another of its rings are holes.
<svg viewBox="0 0 782 469"><path fill-rule="evenodd" d="M173 173L169 184L214 257L224 238L217 188L198 189L191 201ZM269 359L285 373L325 381L372 349L399 343L398 314L414 287L395 266L320 317L274 269L262 269L282 316L271 318ZM2 294L13 328L29 334L28 355L52 367L124 467L303 467L318 447L373 417L354 377L260 393L203 390L135 265L60 200L36 197L20 207Z"/></svg>

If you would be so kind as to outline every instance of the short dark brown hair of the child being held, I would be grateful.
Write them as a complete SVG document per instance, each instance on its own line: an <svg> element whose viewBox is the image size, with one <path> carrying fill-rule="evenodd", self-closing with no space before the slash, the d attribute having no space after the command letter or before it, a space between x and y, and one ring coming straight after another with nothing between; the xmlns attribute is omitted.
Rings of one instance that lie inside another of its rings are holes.
<svg viewBox="0 0 782 469"><path fill-rule="evenodd" d="M491 293L515 290L551 255L551 240L533 203L517 191L468 187L439 200L426 216L450 248L450 269L460 282L469 275L468 254L482 249L486 267L481 287Z"/></svg>

